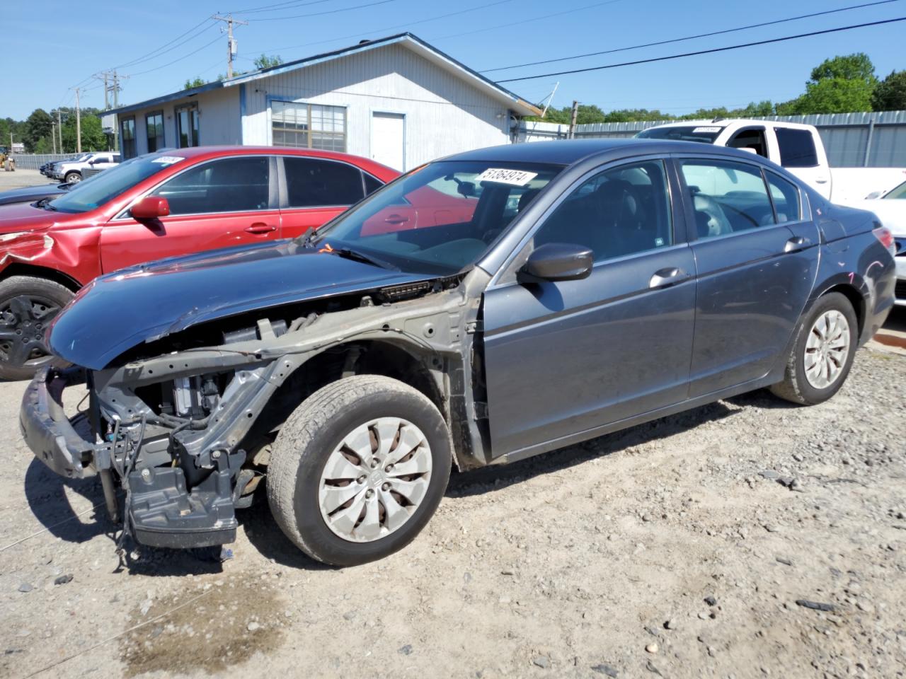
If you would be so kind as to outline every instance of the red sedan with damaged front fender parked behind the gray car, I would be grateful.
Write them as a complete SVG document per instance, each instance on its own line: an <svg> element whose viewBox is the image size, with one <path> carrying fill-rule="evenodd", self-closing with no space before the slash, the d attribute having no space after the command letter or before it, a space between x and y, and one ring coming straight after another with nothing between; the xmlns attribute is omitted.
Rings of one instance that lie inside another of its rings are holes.
<svg viewBox="0 0 906 679"><path fill-rule="evenodd" d="M0 378L29 378L50 360L47 324L101 273L293 238L398 175L328 151L180 148L131 158L62 196L0 208Z"/></svg>

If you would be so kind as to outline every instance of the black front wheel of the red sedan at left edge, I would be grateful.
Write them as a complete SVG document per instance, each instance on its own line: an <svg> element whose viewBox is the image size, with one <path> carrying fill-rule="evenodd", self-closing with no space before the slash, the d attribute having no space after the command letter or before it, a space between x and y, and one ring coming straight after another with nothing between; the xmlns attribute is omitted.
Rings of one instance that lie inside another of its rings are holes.
<svg viewBox="0 0 906 679"><path fill-rule="evenodd" d="M71 299L69 288L43 278L0 282L0 378L31 379L53 362L44 344L47 325Z"/></svg>

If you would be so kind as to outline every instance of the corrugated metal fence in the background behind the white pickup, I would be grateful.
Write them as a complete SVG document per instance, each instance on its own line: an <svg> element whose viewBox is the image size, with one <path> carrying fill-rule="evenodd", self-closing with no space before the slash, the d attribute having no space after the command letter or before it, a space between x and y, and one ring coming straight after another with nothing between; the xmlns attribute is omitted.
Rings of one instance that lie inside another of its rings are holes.
<svg viewBox="0 0 906 679"><path fill-rule="evenodd" d="M783 120L814 125L824 141L831 167L906 167L906 110L879 113L831 113L815 116L770 116L758 120ZM642 129L677 120L645 122L596 122L577 125L577 139L634 137ZM520 141L566 139L568 125L523 122Z"/></svg>

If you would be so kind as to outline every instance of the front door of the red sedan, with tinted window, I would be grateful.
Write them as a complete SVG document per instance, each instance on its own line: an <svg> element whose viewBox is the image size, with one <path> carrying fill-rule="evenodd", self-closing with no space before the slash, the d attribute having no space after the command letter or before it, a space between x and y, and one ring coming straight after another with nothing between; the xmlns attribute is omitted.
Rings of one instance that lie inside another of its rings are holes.
<svg viewBox="0 0 906 679"><path fill-rule="evenodd" d="M268 156L187 167L150 192L167 198L169 216L142 223L126 210L103 227L102 270L279 238L275 177L275 158Z"/></svg>

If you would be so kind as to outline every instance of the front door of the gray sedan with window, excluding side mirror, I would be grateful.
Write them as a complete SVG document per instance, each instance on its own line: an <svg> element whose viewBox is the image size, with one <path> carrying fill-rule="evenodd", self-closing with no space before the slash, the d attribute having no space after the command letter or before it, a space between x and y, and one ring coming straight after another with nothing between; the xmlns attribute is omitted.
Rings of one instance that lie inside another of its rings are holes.
<svg viewBox="0 0 906 679"><path fill-rule="evenodd" d="M612 167L545 216L526 247L586 245L588 278L505 281L486 292L494 456L554 447L686 398L695 262L667 177L660 159Z"/></svg>

